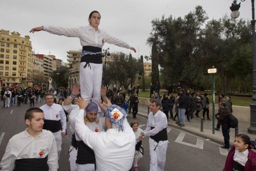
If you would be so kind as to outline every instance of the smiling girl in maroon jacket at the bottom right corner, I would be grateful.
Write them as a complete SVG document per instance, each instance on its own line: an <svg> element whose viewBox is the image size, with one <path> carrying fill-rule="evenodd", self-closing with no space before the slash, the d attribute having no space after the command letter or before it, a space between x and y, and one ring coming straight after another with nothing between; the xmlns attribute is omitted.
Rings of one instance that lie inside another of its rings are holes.
<svg viewBox="0 0 256 171"><path fill-rule="evenodd" d="M256 153L250 148L250 137L239 134L235 137L223 171L256 170Z"/></svg>

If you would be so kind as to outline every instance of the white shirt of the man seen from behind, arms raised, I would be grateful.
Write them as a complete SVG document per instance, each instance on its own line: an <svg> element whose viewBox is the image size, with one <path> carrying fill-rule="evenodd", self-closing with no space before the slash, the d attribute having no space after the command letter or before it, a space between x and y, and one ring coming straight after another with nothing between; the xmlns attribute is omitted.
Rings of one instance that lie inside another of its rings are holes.
<svg viewBox="0 0 256 171"><path fill-rule="evenodd" d="M125 118L123 131L109 129L95 133L83 122L84 110L76 116L76 132L83 142L93 149L98 171L130 170L135 154L135 135Z"/></svg>

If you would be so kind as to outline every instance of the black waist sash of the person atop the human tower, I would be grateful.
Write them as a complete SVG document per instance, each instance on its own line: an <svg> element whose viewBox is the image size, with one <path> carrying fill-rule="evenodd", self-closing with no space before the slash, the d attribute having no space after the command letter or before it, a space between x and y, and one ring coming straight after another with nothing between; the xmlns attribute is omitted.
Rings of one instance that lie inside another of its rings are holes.
<svg viewBox="0 0 256 171"><path fill-rule="evenodd" d="M99 53L99 52L101 52L101 48L94 47L94 46L83 46L82 50L83 51L92 52L92 53L98 53L98 54L83 55L81 57L81 61L80 62L102 63L102 53Z"/></svg>

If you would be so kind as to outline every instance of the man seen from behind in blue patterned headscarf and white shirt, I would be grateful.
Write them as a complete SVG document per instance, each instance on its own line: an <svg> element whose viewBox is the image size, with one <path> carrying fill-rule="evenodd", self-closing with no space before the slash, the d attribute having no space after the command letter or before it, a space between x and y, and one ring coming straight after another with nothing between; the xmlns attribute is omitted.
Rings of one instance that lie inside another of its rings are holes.
<svg viewBox="0 0 256 171"><path fill-rule="evenodd" d="M78 98L79 112L76 116L78 136L93 149L98 171L130 170L135 154L135 135L127 122L126 111L108 100L106 109L106 132L92 132L83 122L84 109L89 101Z"/></svg>

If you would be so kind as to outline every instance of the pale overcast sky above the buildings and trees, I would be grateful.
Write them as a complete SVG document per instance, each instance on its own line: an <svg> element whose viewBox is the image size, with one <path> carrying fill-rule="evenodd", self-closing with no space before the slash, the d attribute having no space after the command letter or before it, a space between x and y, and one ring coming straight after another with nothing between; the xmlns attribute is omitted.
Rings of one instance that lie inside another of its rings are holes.
<svg viewBox="0 0 256 171"><path fill-rule="evenodd" d="M240 0L238 0L240 2ZM201 5L209 19L230 15L232 0L0 0L0 30L17 31L22 37L29 35L33 51L55 55L67 61L67 51L81 49L78 38L57 36L48 32L29 33L33 27L53 25L76 28L88 25L91 11L101 14L99 28L118 37L137 49L137 53L105 44L110 52L132 53L134 57L150 55L146 39L152 30L151 21L162 15L184 16ZM251 19L251 1L241 2L240 18Z"/></svg>

